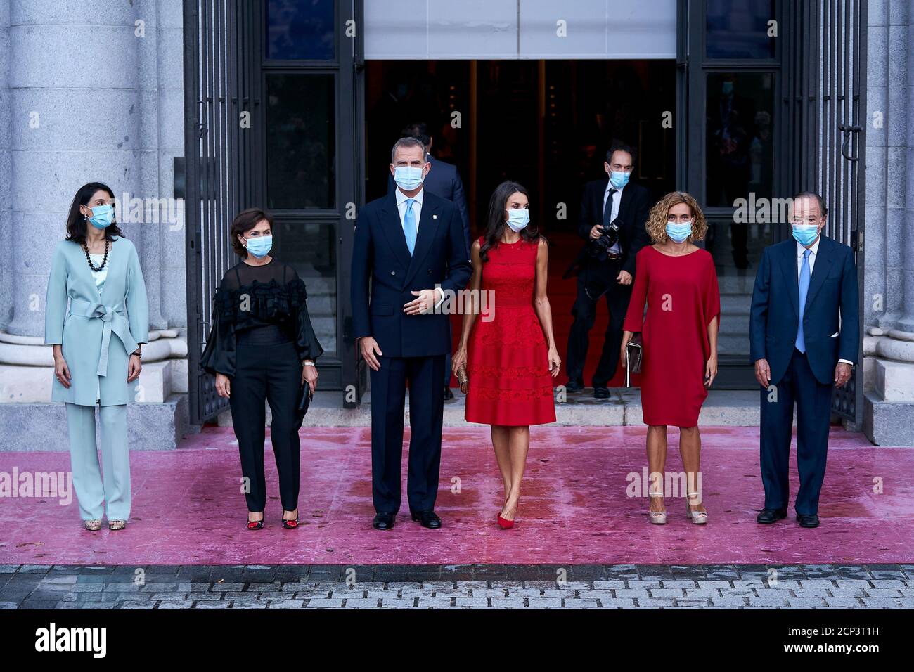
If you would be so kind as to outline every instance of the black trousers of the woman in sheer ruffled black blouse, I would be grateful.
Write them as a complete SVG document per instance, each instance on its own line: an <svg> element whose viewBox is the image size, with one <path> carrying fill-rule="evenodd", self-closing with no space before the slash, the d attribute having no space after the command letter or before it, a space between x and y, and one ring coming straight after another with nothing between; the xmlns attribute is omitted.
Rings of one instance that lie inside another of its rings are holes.
<svg viewBox="0 0 914 672"><path fill-rule="evenodd" d="M301 420L296 417L296 407L301 381L302 362L292 341L262 344L239 340L229 401L249 511L259 513L267 504L263 475L264 400L270 403L272 412L270 435L282 508L286 511L298 508Z"/></svg>

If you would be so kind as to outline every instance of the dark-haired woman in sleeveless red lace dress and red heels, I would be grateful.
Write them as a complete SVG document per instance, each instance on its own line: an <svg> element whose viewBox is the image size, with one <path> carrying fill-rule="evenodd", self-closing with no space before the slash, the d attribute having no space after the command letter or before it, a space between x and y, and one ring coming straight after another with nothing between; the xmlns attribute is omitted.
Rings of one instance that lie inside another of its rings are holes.
<svg viewBox="0 0 914 672"><path fill-rule="evenodd" d="M473 278L452 363L454 372L466 364L466 420L492 425L505 481L503 528L514 526L530 425L556 421L552 379L561 366L546 295L547 242L527 226L528 208L526 189L516 182L503 182L489 201L485 235L473 242Z"/></svg>

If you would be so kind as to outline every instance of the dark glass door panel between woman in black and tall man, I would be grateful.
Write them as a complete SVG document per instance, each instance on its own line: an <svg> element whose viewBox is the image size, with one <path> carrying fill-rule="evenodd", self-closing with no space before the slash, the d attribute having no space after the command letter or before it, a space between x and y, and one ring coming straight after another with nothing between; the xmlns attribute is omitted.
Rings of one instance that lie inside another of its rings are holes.
<svg viewBox="0 0 914 672"><path fill-rule="evenodd" d="M275 249L302 277L324 356L323 389L355 406L364 388L351 315L347 263L362 181L356 118L361 2L268 0L258 3L260 193L275 216ZM358 115L360 116L360 115ZM363 377L364 379L364 377Z"/></svg>

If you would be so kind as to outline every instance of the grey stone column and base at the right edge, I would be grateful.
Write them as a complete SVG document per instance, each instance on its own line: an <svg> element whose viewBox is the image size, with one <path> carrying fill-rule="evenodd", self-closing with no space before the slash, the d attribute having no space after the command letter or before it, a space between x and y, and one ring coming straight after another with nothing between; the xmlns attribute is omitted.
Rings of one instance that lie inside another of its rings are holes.
<svg viewBox="0 0 914 672"><path fill-rule="evenodd" d="M867 144L876 144L866 154L864 432L880 445L914 445L914 0L870 11L867 93L877 97L867 112L872 119L885 101L886 128L867 129ZM883 189L885 231L874 240ZM885 312L872 307L880 293Z"/></svg>

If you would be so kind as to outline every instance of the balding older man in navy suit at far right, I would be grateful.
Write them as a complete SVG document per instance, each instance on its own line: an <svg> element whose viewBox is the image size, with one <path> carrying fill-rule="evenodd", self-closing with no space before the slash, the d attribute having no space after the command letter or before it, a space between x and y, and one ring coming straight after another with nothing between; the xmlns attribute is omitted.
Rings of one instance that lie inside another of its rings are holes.
<svg viewBox="0 0 914 672"><path fill-rule="evenodd" d="M793 197L793 238L766 248L752 292L749 348L762 387L762 524L787 517L795 401L800 490L793 507L801 527L819 526L832 393L850 379L858 357L854 251L822 236L826 217L818 194Z"/></svg>

